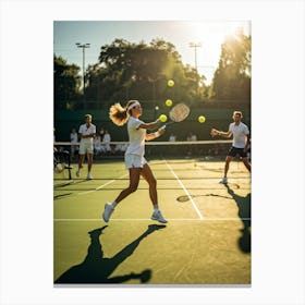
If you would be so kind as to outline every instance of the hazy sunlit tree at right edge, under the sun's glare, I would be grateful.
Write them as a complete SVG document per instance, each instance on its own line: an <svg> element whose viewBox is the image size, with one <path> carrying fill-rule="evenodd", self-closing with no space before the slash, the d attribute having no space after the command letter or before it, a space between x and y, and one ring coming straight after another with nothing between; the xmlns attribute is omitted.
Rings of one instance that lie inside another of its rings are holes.
<svg viewBox="0 0 305 305"><path fill-rule="evenodd" d="M251 36L239 32L225 38L213 75L211 95L217 99L249 100Z"/></svg>

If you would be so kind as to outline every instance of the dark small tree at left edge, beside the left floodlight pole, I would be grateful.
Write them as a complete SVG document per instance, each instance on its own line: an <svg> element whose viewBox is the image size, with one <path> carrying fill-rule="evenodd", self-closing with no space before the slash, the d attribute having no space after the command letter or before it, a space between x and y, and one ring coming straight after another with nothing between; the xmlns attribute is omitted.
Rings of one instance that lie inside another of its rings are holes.
<svg viewBox="0 0 305 305"><path fill-rule="evenodd" d="M53 98L56 109L73 108L80 98L80 68L68 64L61 57L53 58Z"/></svg>

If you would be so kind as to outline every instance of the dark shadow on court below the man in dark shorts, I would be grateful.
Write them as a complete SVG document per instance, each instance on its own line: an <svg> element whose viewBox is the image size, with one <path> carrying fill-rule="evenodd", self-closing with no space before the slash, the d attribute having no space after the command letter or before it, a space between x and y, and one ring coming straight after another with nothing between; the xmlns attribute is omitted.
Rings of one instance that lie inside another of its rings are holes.
<svg viewBox="0 0 305 305"><path fill-rule="evenodd" d="M239 239L239 246L243 253L251 253L251 193L242 197L236 195L228 184L225 184L225 187L235 200L239 207L239 217L244 224L244 228L241 230L242 236Z"/></svg>

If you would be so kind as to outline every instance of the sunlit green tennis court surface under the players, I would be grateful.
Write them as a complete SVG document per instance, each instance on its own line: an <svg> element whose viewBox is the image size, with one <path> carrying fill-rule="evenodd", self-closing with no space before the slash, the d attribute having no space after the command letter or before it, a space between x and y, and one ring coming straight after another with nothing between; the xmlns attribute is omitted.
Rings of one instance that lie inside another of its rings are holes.
<svg viewBox="0 0 305 305"><path fill-rule="evenodd" d="M144 180L102 221L105 203L129 184L122 160L94 163L91 181L85 167L75 176L76 164L71 181L54 174L56 284L249 285L251 174L243 163L231 163L228 185L219 184L223 161L160 159L149 166L164 225L150 220Z"/></svg>

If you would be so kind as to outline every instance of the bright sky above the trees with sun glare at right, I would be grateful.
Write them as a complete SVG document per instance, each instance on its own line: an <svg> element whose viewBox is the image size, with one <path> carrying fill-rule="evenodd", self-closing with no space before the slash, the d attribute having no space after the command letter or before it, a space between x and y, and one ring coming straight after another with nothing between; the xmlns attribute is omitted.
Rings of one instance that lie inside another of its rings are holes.
<svg viewBox="0 0 305 305"><path fill-rule="evenodd" d="M195 66L195 48L190 42L200 45L196 48L198 73L211 82L225 36L234 35L243 28L251 34L249 21L54 21L53 48L69 63L83 68L83 50L76 42L90 44L85 49L85 68L97 63L100 47L111 44L115 38L130 42L162 38L172 42L182 57L183 64ZM82 73L82 70L81 70Z"/></svg>

